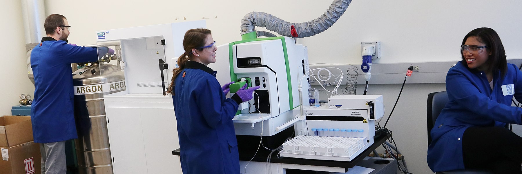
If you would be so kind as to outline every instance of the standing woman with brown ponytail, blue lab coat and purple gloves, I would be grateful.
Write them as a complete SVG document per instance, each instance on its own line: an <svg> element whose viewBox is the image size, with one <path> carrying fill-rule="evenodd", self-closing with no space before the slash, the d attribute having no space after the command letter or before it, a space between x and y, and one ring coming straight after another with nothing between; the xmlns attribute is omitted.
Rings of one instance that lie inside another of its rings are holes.
<svg viewBox="0 0 522 174"><path fill-rule="evenodd" d="M169 92L174 101L183 173L240 173L235 112L259 87L239 89L231 98L208 64L216 62L216 45L208 29L191 29L183 38L185 52L174 69ZM226 61L226 60L223 60Z"/></svg>

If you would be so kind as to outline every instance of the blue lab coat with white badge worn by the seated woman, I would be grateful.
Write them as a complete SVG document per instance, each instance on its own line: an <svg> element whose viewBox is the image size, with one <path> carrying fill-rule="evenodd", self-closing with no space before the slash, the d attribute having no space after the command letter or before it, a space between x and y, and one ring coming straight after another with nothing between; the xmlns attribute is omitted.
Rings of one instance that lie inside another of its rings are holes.
<svg viewBox="0 0 522 174"><path fill-rule="evenodd" d="M446 76L449 101L435 121L428 147L428 166L434 172L464 169L462 135L467 127L522 124L522 109L511 107L513 96L522 101L522 72L514 64L507 64L505 77L495 71L492 90L485 73L465 63L458 62Z"/></svg>

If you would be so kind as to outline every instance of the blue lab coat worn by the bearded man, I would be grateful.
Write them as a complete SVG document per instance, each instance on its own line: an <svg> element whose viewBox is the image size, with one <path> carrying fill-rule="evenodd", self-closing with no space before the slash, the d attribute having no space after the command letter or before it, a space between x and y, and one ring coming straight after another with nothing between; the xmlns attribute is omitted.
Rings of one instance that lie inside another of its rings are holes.
<svg viewBox="0 0 522 174"><path fill-rule="evenodd" d="M35 143L78 138L70 64L97 60L96 48L78 47L51 37L42 38L34 47L31 52L35 87L31 121Z"/></svg>

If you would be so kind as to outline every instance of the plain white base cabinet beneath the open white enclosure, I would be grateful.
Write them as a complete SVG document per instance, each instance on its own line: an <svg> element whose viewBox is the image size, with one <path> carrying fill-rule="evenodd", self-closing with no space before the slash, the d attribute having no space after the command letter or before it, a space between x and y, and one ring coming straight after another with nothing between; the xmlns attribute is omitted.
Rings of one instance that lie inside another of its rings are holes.
<svg viewBox="0 0 522 174"><path fill-rule="evenodd" d="M182 173L170 96L105 96L114 174Z"/></svg>

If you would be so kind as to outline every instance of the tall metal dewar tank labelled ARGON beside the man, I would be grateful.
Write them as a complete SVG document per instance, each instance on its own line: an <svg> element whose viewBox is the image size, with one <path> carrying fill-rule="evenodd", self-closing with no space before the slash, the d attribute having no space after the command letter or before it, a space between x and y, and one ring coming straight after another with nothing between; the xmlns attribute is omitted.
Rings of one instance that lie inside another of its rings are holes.
<svg viewBox="0 0 522 174"><path fill-rule="evenodd" d="M79 173L113 173L103 95L126 89L124 73L95 63L75 71L73 84Z"/></svg>

